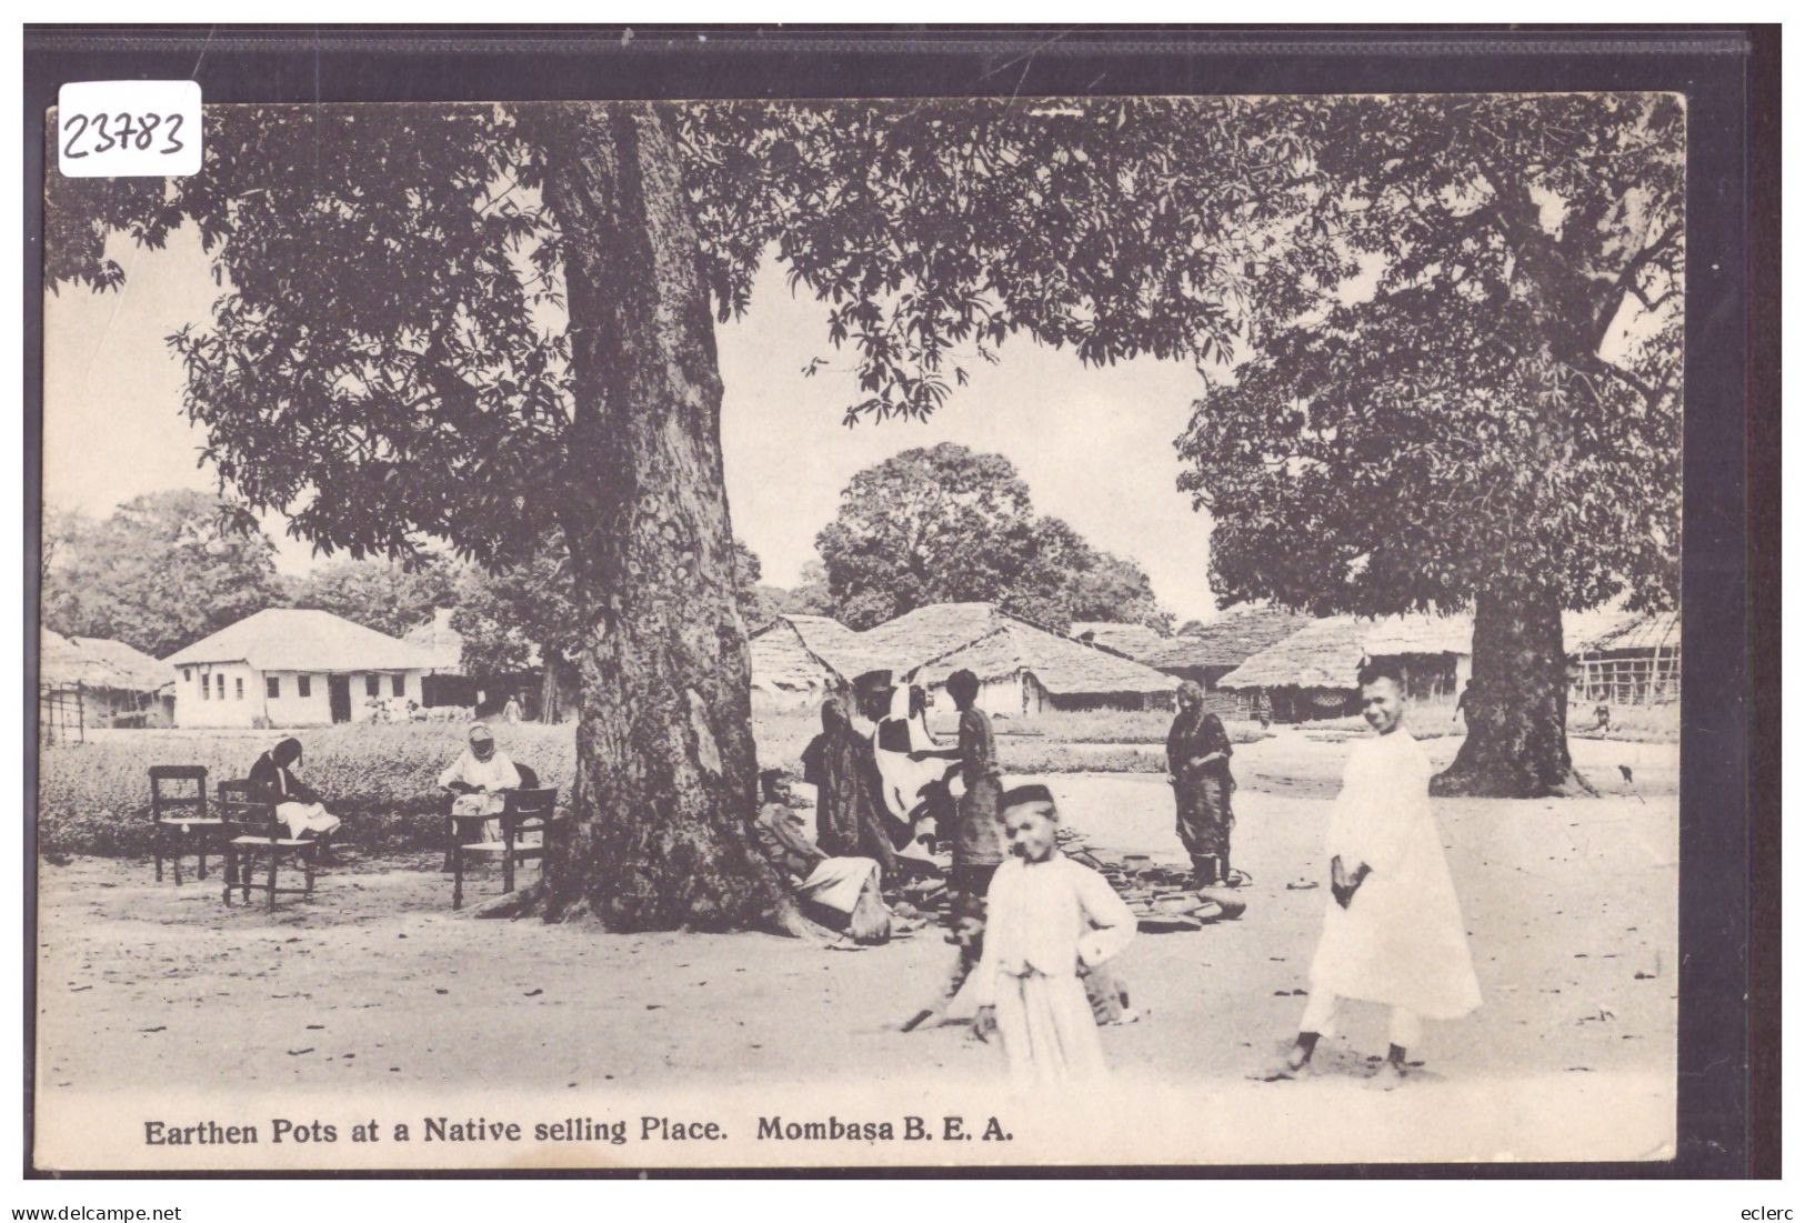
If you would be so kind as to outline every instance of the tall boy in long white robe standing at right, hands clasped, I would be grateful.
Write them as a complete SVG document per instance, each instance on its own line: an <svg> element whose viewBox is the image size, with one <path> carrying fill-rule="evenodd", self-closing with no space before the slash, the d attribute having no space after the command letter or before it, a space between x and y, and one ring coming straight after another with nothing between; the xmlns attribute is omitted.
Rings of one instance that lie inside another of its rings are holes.
<svg viewBox="0 0 1805 1223"><path fill-rule="evenodd" d="M1422 1019L1480 1005L1466 922L1430 810L1428 756L1404 729L1404 691L1390 664L1361 667L1361 705L1377 734L1354 745L1328 819L1330 897L1310 963L1310 1001L1274 1077L1309 1066L1343 998L1392 1008L1383 1086L1404 1075Z"/></svg>

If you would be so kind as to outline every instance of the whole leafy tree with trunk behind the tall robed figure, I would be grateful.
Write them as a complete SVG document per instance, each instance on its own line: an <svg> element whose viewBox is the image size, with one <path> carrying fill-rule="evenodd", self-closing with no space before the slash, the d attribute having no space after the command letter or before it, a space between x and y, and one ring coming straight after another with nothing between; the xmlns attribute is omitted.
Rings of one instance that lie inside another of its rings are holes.
<svg viewBox="0 0 1805 1223"><path fill-rule="evenodd" d="M1560 792L1561 610L1679 588L1684 103L1310 97L1267 123L1249 355L1180 440L1211 586L1471 606L1476 696L1437 788Z"/></svg>

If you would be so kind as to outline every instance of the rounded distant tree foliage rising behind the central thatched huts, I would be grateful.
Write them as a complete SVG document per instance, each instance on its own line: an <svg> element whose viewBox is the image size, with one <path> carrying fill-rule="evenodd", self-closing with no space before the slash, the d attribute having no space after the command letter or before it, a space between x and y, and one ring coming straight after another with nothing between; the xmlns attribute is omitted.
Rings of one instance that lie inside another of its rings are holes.
<svg viewBox="0 0 1805 1223"><path fill-rule="evenodd" d="M1061 630L1074 619L1164 622L1139 566L1038 516L1007 458L953 442L856 474L816 548L828 613L852 628L931 602L998 602Z"/></svg>

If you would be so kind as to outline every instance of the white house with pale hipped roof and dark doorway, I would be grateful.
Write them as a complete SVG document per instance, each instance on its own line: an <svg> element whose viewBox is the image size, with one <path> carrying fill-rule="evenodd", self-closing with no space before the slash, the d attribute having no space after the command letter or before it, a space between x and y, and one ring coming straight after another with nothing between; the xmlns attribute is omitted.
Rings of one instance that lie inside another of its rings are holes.
<svg viewBox="0 0 1805 1223"><path fill-rule="evenodd" d="M175 651L175 725L323 727L422 700L419 646L309 608L267 608Z"/></svg>

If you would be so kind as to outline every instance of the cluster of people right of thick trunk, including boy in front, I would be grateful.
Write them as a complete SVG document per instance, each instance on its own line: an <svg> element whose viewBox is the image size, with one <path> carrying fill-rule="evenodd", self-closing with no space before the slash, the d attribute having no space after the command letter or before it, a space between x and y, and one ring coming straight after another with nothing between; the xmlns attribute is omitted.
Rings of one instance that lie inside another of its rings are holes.
<svg viewBox="0 0 1805 1223"><path fill-rule="evenodd" d="M928 734L922 687L886 671L854 682L850 713L827 698L821 734L803 752L818 795L814 839L769 770L758 844L800 900L843 916L856 938L875 929L859 907L881 895L883 878L913 869L922 846L944 848L958 954L937 1005L904 1026L964 996L975 1030L1002 1041L1016 1082L1099 1071L1097 1025L1134 1019L1103 967L1134 938L1134 913L1097 871L1060 853L1047 786L1004 788L978 676L955 671L946 693L958 711L953 747Z"/></svg>

